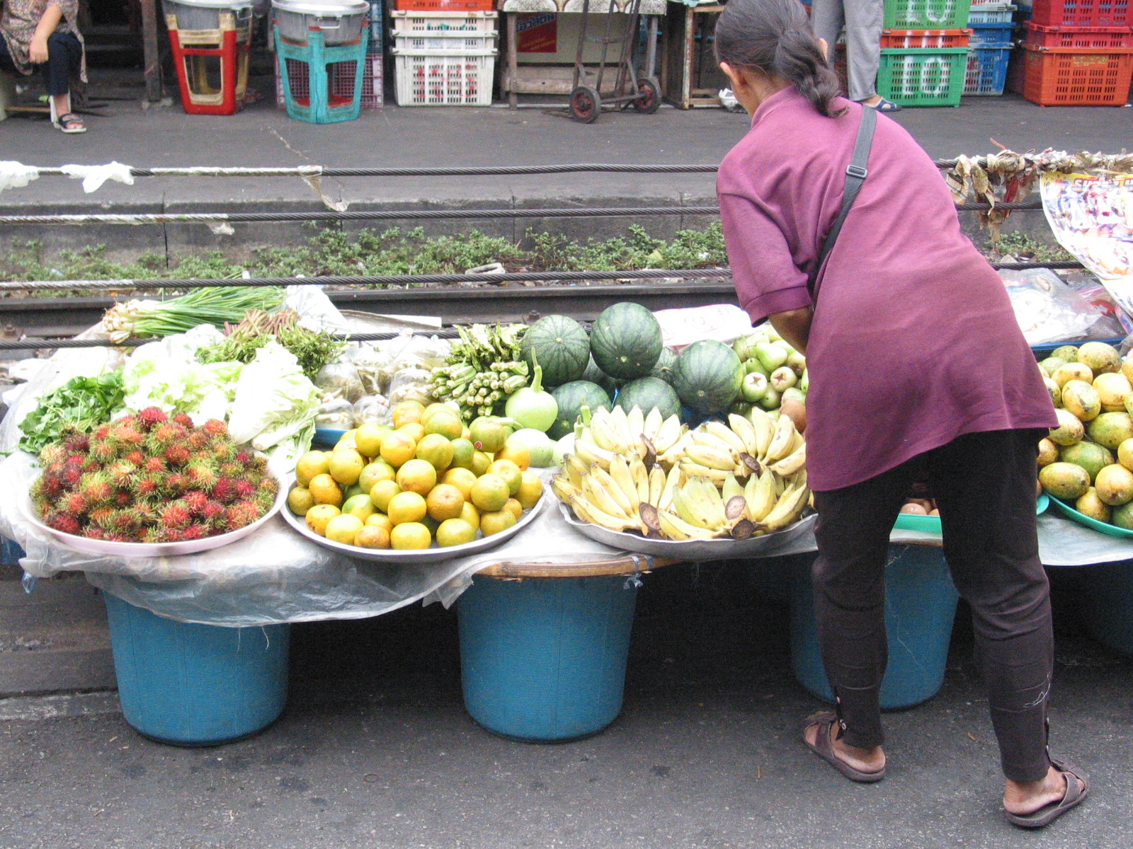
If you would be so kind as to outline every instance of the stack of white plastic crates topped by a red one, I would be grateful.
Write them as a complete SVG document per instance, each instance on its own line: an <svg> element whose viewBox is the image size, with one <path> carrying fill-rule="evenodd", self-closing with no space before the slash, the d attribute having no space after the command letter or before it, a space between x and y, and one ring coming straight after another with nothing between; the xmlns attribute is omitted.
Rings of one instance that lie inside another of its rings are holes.
<svg viewBox="0 0 1133 849"><path fill-rule="evenodd" d="M399 106L489 106L499 54L493 0L397 0Z"/></svg>

